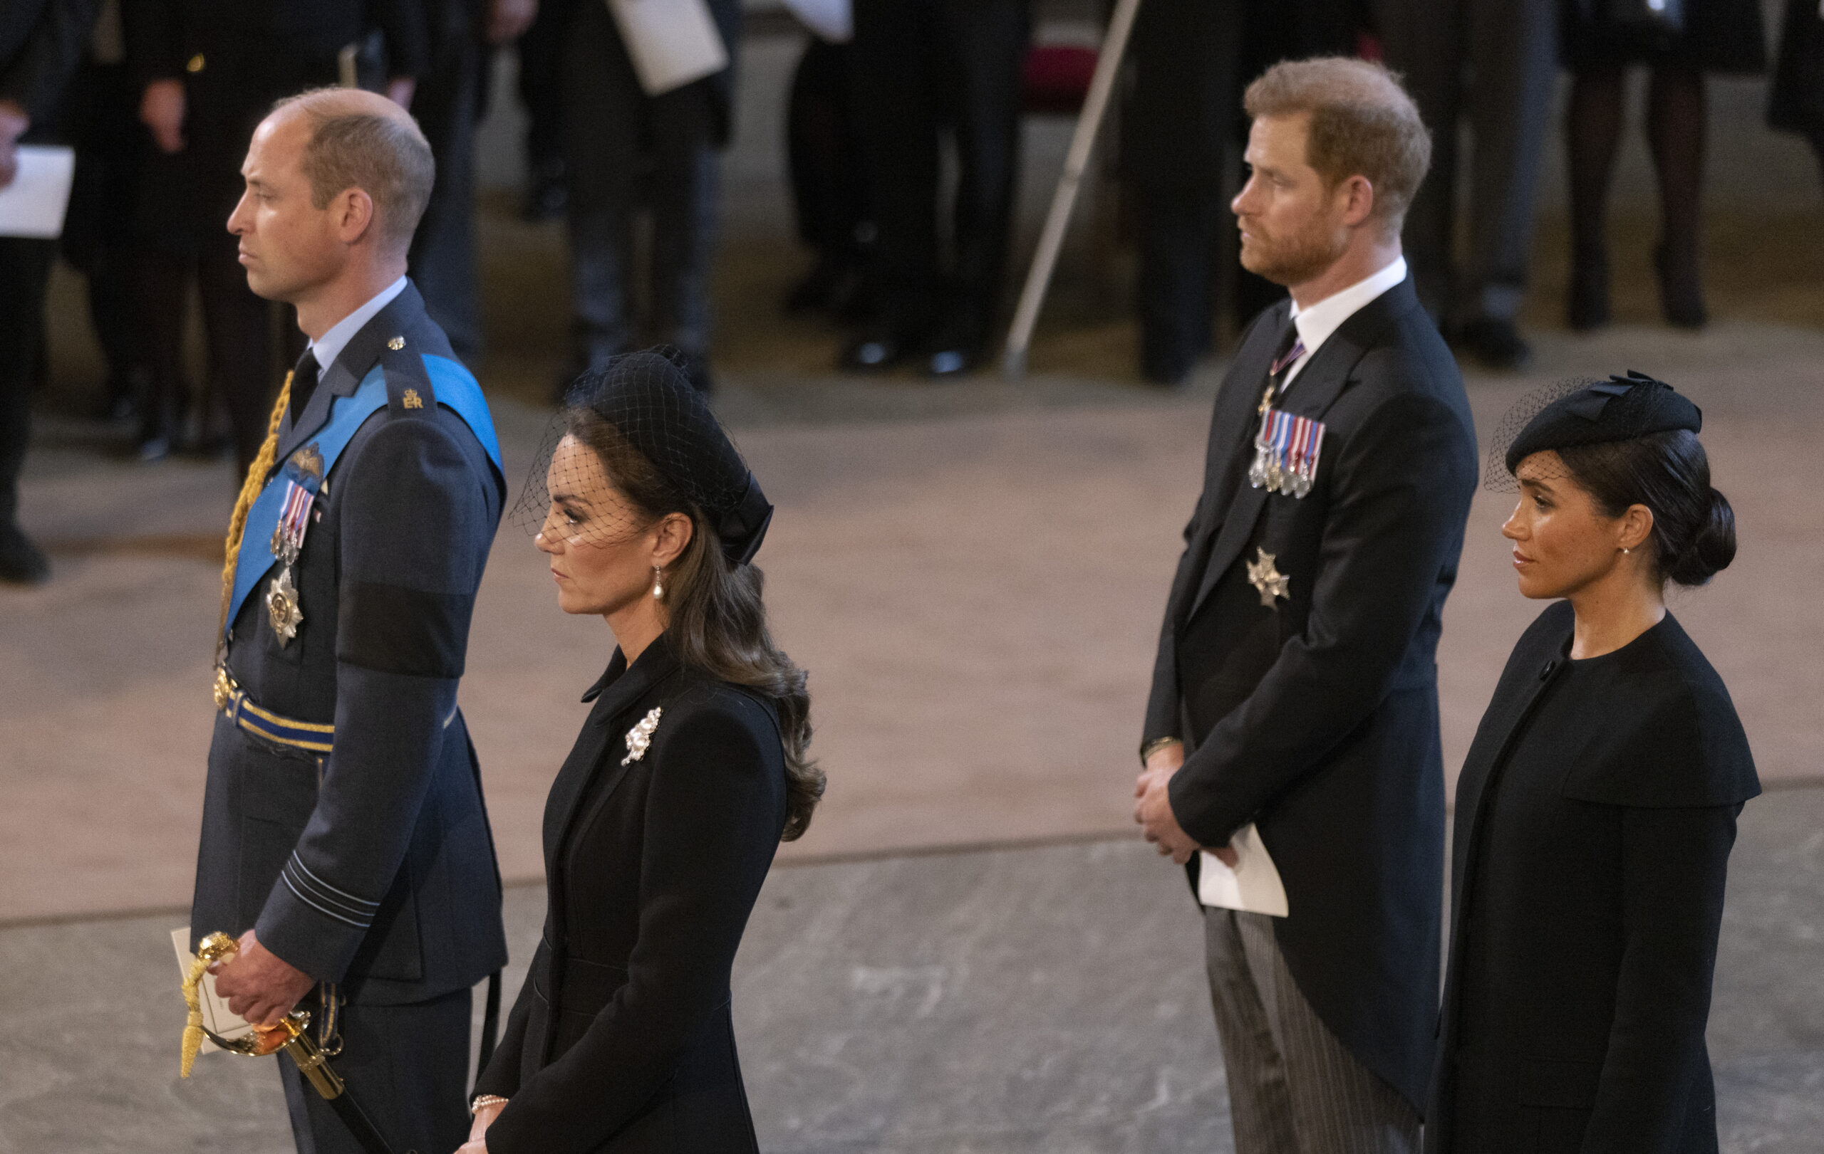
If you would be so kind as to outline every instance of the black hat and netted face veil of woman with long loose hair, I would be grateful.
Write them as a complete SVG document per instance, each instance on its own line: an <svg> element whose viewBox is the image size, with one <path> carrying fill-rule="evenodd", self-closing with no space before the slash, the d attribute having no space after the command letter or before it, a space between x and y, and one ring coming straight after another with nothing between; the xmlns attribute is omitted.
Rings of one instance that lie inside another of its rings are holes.
<svg viewBox="0 0 1824 1154"><path fill-rule="evenodd" d="M611 540L640 529L637 510L602 498L598 481L606 474L593 452L560 454L565 434L586 412L611 425L702 510L731 563L753 560L773 507L704 396L662 350L626 354L576 377L513 507L516 525L527 532L551 525L571 541Z"/></svg>

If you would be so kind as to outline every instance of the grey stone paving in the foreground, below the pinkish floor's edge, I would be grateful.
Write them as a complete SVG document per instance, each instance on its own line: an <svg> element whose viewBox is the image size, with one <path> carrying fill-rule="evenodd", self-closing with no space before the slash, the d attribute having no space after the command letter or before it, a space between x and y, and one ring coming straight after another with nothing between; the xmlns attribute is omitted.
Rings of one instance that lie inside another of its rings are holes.
<svg viewBox="0 0 1824 1154"><path fill-rule="evenodd" d="M1820 788L1740 822L1709 1030L1726 1154L1824 1149L1820 829ZM542 888L509 890L509 997L542 917ZM290 1149L283 1059L177 1079L171 924L0 930L0 1154ZM1182 875L1129 840L779 868L735 966L761 1149L1231 1150L1200 952Z"/></svg>

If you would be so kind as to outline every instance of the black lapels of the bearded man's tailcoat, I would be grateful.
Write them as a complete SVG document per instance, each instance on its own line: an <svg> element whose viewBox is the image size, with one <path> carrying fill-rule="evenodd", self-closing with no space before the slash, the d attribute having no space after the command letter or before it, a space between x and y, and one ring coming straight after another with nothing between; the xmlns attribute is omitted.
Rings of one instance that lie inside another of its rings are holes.
<svg viewBox="0 0 1824 1154"><path fill-rule="evenodd" d="M1373 301L1368 301L1355 310L1350 319L1337 326L1330 339L1324 341L1311 359L1299 370L1299 376L1291 379L1291 385L1280 396L1277 408L1299 414L1301 417L1321 419L1324 412L1337 401L1342 394L1342 386L1348 385L1350 374L1355 365L1361 363L1363 355L1373 348L1375 341L1386 332L1386 326L1397 319L1406 308L1417 308L1419 297L1412 292L1412 277L1406 277L1394 288L1386 290ZM1290 314L1290 306L1288 306ZM1268 366L1270 368L1270 366ZM1262 372L1259 385L1264 386L1266 374ZM1255 392L1255 403L1259 405L1259 390ZM1246 416L1246 432L1249 436L1238 438L1235 443L1235 452L1253 452L1253 430L1259 423L1259 416L1253 408ZM1229 459L1229 476L1237 476L1235 461ZM1266 489L1255 489L1242 478L1235 489L1235 496L1229 501L1229 510L1222 518L1222 529L1217 532L1215 545L1209 547L1209 560L1204 563L1204 578L1197 587L1197 596L1191 600L1191 613L1184 616L1189 622L1209 592L1222 580L1222 574L1229 571L1235 558L1248 545L1248 538L1253 536L1255 521L1260 520L1260 510L1266 509L1268 500Z"/></svg>

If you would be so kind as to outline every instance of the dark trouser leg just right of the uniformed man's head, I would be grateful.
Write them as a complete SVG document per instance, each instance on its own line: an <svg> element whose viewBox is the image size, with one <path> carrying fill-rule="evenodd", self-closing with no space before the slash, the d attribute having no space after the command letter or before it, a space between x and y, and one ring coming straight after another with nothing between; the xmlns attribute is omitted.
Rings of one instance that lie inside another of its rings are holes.
<svg viewBox="0 0 1824 1154"><path fill-rule="evenodd" d="M438 160L438 180L412 237L412 281L425 297L425 312L449 335L456 355L465 359L482 352L474 253L480 57L480 44L469 29L445 31L432 44L430 66L412 95L412 115Z"/></svg>

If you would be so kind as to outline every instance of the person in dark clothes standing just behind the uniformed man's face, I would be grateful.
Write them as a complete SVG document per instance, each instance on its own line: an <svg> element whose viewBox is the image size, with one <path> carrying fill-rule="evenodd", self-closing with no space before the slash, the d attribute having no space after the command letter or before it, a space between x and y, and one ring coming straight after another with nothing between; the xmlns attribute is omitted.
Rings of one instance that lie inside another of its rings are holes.
<svg viewBox="0 0 1824 1154"><path fill-rule="evenodd" d="M420 0L124 0L128 62L140 120L161 151L182 153L193 195L161 206L190 215L210 379L226 401L235 467L244 474L266 434L275 381L270 304L246 286L223 221L241 199L241 159L274 100L337 82L337 55L378 27L387 40L390 97L410 104L425 67ZM182 306L182 263L166 263L164 292ZM157 299L157 294L151 295ZM181 312L144 317L175 328Z"/></svg>

